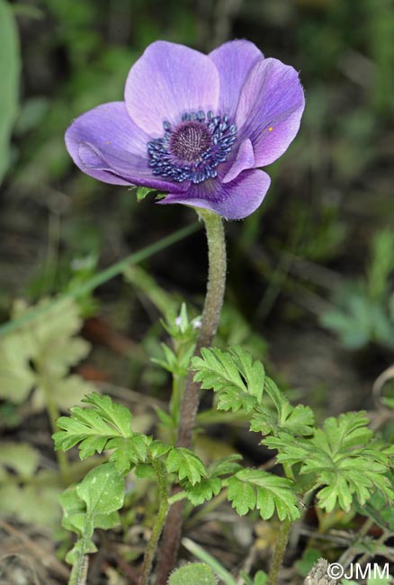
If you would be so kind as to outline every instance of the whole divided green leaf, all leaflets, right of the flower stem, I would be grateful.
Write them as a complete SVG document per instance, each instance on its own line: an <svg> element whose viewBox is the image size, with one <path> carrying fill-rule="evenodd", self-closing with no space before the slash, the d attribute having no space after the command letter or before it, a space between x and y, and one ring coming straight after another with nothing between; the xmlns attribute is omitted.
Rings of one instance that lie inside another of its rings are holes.
<svg viewBox="0 0 394 585"><path fill-rule="evenodd" d="M228 480L228 498L238 514L259 509L266 519L276 510L281 519L298 518L297 491L305 489L301 489L302 476L309 482L308 491L318 490L318 506L327 511L337 506L348 511L354 497L363 506L376 490L393 499L384 475L392 450L374 439L363 412L330 418L323 428L314 428L309 407L292 407L264 374L263 365L239 347L228 352L203 349L201 357L193 358L192 367L202 388L219 394L219 409L246 411L250 429L266 436L262 443L278 451L277 461L288 476L282 479L250 469L235 473ZM291 481L294 466L300 470L295 483Z"/></svg>

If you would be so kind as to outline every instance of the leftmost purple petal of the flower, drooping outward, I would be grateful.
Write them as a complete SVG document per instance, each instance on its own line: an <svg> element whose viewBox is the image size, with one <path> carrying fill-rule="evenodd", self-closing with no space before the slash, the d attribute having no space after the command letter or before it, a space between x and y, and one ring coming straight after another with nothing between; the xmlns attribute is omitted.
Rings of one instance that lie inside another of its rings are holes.
<svg viewBox="0 0 394 585"><path fill-rule="evenodd" d="M187 184L170 184L152 175L147 142L147 135L130 119L124 102L97 106L79 116L66 132L67 150L86 175L110 184L185 191Z"/></svg>

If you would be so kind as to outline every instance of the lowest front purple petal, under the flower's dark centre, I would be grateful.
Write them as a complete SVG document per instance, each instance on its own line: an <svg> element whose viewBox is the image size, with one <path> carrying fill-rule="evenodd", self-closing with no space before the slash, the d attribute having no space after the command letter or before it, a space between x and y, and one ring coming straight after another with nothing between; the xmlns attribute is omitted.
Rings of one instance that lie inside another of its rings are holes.
<svg viewBox="0 0 394 585"><path fill-rule="evenodd" d="M270 183L264 171L254 169L241 173L231 183L209 180L193 184L187 193L169 193L158 203L183 203L215 211L227 220L241 220L261 204Z"/></svg>

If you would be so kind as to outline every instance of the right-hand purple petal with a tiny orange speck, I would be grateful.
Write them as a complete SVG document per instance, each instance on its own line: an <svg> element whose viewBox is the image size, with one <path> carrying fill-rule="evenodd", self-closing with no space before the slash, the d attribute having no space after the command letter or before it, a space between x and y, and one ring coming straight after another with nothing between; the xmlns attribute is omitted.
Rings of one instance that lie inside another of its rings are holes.
<svg viewBox="0 0 394 585"><path fill-rule="evenodd" d="M300 128L305 98L297 71L275 58L255 64L237 107L240 139L249 138L255 166L271 164L289 147Z"/></svg>

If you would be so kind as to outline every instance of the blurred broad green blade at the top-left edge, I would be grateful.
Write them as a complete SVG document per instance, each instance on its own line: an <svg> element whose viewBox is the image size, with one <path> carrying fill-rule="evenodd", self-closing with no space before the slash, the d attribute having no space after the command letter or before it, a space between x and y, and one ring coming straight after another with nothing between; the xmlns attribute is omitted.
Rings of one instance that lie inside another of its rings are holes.
<svg viewBox="0 0 394 585"><path fill-rule="evenodd" d="M0 0L0 184L10 159L10 137L18 111L21 61L19 40L11 7Z"/></svg>

